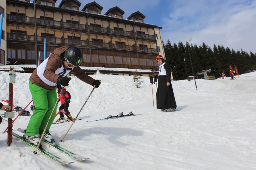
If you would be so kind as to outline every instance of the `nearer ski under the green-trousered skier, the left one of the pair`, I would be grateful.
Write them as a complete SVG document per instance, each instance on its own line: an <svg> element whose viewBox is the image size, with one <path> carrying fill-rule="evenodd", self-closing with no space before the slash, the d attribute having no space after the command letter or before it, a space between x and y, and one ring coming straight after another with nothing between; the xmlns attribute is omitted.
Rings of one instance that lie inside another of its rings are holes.
<svg viewBox="0 0 256 170"><path fill-rule="evenodd" d="M19 140L22 140L23 142L27 143L29 146L33 147L34 149L37 149L37 147L35 145L33 145L32 143L28 142L27 140L25 140L24 137L19 136L18 134L12 132L12 136L18 138ZM66 160L63 160L57 156L55 156L54 154L52 154L51 152L47 152L45 149L43 148L38 148L37 149L39 152L41 152L42 154L44 154L45 156L51 158L52 160L54 160L55 162L61 164L61 165L67 165L67 164L71 164L74 162L67 162Z"/></svg>

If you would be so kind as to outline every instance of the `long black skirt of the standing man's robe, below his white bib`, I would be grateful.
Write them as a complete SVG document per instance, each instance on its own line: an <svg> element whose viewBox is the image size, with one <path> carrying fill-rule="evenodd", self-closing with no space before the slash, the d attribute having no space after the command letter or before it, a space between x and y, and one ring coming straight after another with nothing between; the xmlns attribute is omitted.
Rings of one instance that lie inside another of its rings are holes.
<svg viewBox="0 0 256 170"><path fill-rule="evenodd" d="M156 91L156 108L176 108L176 101L172 84L166 85L166 75L158 76L158 87Z"/></svg>

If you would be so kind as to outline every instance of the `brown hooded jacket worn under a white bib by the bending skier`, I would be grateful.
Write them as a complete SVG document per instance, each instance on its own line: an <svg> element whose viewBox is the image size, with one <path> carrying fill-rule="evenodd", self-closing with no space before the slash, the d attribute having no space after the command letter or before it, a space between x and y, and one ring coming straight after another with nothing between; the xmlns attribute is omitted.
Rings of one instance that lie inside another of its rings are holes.
<svg viewBox="0 0 256 170"><path fill-rule="evenodd" d="M58 68L61 68L63 65L63 61L62 58L60 57L60 54L65 52L68 49L68 47L60 47L60 48L56 48L53 52L55 54L51 54L48 58L48 62L47 65L45 67L44 70L44 77L46 79L48 79L51 82L57 83L58 78L60 77L60 75L56 74L55 71ZM46 61L44 61L46 62ZM65 70L63 70L65 71ZM95 79L89 77L85 72L82 71L82 69L77 66L75 67L72 71L71 71L77 78L79 78L80 80L82 80L83 82L93 85L93 81ZM49 86L47 84L45 84L38 76L37 74L37 68L33 71L33 73L31 74L29 80L39 86L39 87L43 87L45 89L51 90L54 89L56 86Z"/></svg>

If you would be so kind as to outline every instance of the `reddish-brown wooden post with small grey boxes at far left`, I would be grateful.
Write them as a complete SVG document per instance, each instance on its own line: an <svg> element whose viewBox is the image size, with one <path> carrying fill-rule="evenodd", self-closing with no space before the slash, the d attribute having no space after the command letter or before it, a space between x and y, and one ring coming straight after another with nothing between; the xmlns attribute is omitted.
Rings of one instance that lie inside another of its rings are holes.
<svg viewBox="0 0 256 170"><path fill-rule="evenodd" d="M12 71L12 66L10 71ZM13 84L9 83L9 105L11 106L10 112L12 112L12 104L13 104ZM8 146L12 143L12 118L8 118L8 137L7 137L7 144Z"/></svg>

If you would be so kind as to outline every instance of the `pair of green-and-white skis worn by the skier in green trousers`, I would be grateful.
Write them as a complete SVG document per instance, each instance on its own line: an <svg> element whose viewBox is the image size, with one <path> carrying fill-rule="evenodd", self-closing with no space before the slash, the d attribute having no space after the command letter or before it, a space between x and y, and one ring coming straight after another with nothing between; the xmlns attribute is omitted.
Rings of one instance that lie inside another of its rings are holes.
<svg viewBox="0 0 256 170"><path fill-rule="evenodd" d="M19 132L22 132L22 133L25 133L25 131L23 129L17 129ZM37 146L33 145L32 143L30 143L28 140L26 140L24 137L12 132L12 135L16 138L18 138L19 140L22 140L23 142L27 143L29 146L33 147L34 149L37 148ZM42 140L43 141L43 140ZM68 151L67 149L65 148L62 148L60 146L58 146L57 144L52 144L48 141L43 141L45 143L47 143L48 145L52 146L53 148L61 151L62 153L65 153L66 155L68 155L69 157L75 159L75 160L78 160L78 161L82 161L82 160L86 160L86 159L89 159L89 158L84 158L84 157L81 157L81 156L78 156L70 151ZM55 155L53 155L51 152L48 152L46 151L45 149L43 149L42 147L41 148L38 148L38 151L43 153L44 155L46 155L47 157L51 158L52 160L54 160L55 162L61 164L61 165L67 165L67 164L72 164L74 162L68 162L66 160L63 160Z"/></svg>

